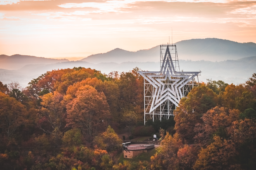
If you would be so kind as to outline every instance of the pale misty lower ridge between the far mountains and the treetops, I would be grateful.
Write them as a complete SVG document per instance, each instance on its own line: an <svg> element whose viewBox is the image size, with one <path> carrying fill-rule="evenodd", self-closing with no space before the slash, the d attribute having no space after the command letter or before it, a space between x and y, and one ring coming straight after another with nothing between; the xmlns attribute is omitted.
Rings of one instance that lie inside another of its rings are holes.
<svg viewBox="0 0 256 170"><path fill-rule="evenodd" d="M238 60L227 60L221 62L213 61L191 61L180 60L180 71L199 71L201 76L199 81L206 81L208 78L213 80L223 80L227 83L244 83L249 77L256 73L256 56L242 58ZM0 69L0 81L10 83L18 81L23 87L28 82L47 71L73 68L73 67L94 68L102 73L108 74L111 71L129 71L135 67L146 71L159 71L160 62L123 62L123 63L99 63L93 64L85 61L68 61L54 64L31 64L22 67L19 70Z"/></svg>

